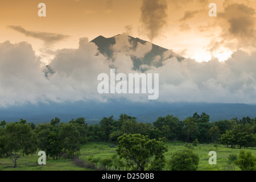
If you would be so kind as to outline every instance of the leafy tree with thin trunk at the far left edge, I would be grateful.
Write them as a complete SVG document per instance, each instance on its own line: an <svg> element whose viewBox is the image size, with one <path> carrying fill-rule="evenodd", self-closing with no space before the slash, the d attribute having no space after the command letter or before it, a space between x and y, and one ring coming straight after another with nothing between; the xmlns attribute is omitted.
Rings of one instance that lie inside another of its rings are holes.
<svg viewBox="0 0 256 182"><path fill-rule="evenodd" d="M8 154L17 167L16 161L21 155L36 152L36 136L26 123L8 123L0 136L0 155Z"/></svg>

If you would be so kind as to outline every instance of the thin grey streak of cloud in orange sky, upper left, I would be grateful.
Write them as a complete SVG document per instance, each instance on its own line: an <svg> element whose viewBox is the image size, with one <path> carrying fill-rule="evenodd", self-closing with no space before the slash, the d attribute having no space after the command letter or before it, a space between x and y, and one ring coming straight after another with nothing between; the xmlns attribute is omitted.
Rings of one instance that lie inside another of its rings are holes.
<svg viewBox="0 0 256 182"><path fill-rule="evenodd" d="M20 32L23 35L35 38L35 39L40 39L43 40L45 44L52 44L56 43L60 40L67 39L69 36L68 35L63 35L63 34L54 34L50 32L39 32L39 31L28 31L22 26L8 26L12 30L15 30L17 32Z"/></svg>

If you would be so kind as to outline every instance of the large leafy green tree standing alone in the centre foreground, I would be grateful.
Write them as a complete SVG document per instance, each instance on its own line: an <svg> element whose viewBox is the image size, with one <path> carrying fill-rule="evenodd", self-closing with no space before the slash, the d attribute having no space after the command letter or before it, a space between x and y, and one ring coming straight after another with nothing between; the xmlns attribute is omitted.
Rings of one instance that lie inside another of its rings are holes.
<svg viewBox="0 0 256 182"><path fill-rule="evenodd" d="M141 134L123 134L118 140L117 154L137 164L137 171L144 171L151 158L164 160L163 154L167 151L162 140L148 139Z"/></svg>

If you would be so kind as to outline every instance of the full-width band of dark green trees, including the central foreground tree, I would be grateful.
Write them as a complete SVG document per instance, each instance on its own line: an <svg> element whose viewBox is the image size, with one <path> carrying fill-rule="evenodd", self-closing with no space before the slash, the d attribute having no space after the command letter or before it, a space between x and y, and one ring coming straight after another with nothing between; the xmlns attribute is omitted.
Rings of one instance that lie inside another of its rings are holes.
<svg viewBox="0 0 256 182"><path fill-rule="evenodd" d="M63 155L68 158L79 155L82 144L86 142L111 142L118 145L117 153L120 157L133 160L137 169L144 169L147 158L138 160L133 154L124 153L128 151L125 150L129 144L127 141L138 147L143 146L143 156L155 156L155 164L163 161L163 153L167 150L164 140L221 143L226 147L255 147L256 118L233 118L212 123L209 118L208 114L194 113L180 121L173 115L167 115L159 117L153 123L143 123L138 122L135 117L121 114L118 119L113 116L104 117L100 123L88 125L85 118L63 123L56 117L51 122L37 126L24 119L11 123L1 121L0 158L9 156L16 167L16 160L21 155L34 154L38 150L46 152L47 160L57 160ZM144 143L136 143L139 140ZM139 151L136 148L134 150Z"/></svg>

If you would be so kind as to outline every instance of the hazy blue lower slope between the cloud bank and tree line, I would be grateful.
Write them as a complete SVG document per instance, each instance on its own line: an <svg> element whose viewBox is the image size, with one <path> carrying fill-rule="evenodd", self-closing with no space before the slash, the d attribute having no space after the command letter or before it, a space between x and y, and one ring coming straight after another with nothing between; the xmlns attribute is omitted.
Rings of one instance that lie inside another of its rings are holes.
<svg viewBox="0 0 256 182"><path fill-rule="evenodd" d="M52 118L59 117L62 122L84 117L88 123L98 123L103 117L114 115L118 119L120 114L128 114L137 117L139 122L152 123L160 116L168 114L183 120L193 113L205 112L210 115L210 121L232 119L249 116L256 117L256 105L246 104L205 104L205 103L159 103L147 104L137 102L75 102L65 104L38 104L25 106L13 106L0 109L0 120L19 121L26 119L28 122L50 122Z"/></svg>

